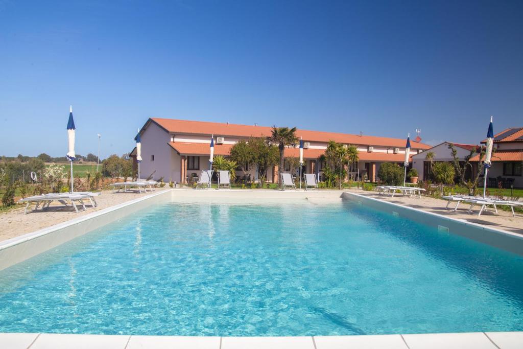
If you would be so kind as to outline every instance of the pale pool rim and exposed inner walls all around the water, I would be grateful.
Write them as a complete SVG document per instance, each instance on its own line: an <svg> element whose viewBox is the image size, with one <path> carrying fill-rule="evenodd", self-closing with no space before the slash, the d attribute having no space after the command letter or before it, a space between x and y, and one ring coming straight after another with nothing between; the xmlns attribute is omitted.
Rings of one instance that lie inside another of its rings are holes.
<svg viewBox="0 0 523 349"><path fill-rule="evenodd" d="M465 222L452 217L438 215L413 207L398 205L393 202L371 198L348 191L279 191L279 190L194 190L168 189L160 193L146 195L123 204L72 219L55 226L41 229L20 237L0 242L0 270L24 261L36 254L52 249L54 246L74 239L105 224L122 219L132 212L158 202L199 201L254 203L274 202L274 199L308 199L317 202L337 201L340 198L374 202L396 216L410 218L408 212L423 213L423 217L444 219L459 227L473 227L495 232L497 236L510 238L507 241L521 241L521 235L504 230L484 227L481 224ZM304 200L306 201L306 200ZM388 206L382 206L383 204ZM393 209L391 209L393 208ZM397 211L401 211L401 215ZM411 218L412 219L412 218ZM425 221L424 221L425 222ZM426 223L426 222L425 222ZM448 224L451 226L452 224ZM453 227L456 227L454 225ZM451 233L457 233L449 229ZM477 230L476 230L477 232ZM498 235L502 234L502 235ZM463 235L463 234L461 234ZM468 234L464 234L468 235ZM477 234L476 234L477 235ZM477 240L477 237L469 238ZM47 238L47 241L44 240ZM514 240L517 239L517 240ZM480 238L480 240L485 240ZM488 239L487 239L488 240ZM38 243L34 243L38 242ZM42 243L43 242L43 243ZM485 241L483 241L485 242ZM486 243L489 243L487 241ZM504 247L505 243L503 244ZM518 247L519 249L519 247ZM92 335L92 334L52 334L52 333L0 333L0 348L310 348L310 349L345 349L345 348L523 348L523 332L472 332L472 333L437 333L437 334L390 334L390 335L354 335L354 336L288 336L288 337L203 337L203 336L140 336L140 335Z"/></svg>

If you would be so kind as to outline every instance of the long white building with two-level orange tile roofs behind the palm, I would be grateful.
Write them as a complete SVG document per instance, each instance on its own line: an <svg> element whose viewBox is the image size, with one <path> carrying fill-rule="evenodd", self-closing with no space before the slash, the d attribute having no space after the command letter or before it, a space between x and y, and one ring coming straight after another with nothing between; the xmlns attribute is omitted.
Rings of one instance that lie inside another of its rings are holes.
<svg viewBox="0 0 523 349"><path fill-rule="evenodd" d="M209 147L214 137L214 155L228 156L234 143L251 136L270 136L271 127L233 125L230 123L188 121L150 118L140 130L142 158L140 165L143 178L163 177L165 181L186 183L193 174L199 175L209 168ZM356 145L359 151L358 168L353 172L366 173L370 181L377 180L377 171L382 162L403 163L406 139L375 136L358 136L346 133L297 130L296 136L305 143L304 160L306 173L321 174L317 158L324 153L327 142L334 140L347 145ZM411 153L430 146L411 142ZM132 154L131 154L132 155ZM299 156L298 148L289 148L286 156ZM256 168L250 169L257 179ZM278 167L267 175L267 181L277 182Z"/></svg>

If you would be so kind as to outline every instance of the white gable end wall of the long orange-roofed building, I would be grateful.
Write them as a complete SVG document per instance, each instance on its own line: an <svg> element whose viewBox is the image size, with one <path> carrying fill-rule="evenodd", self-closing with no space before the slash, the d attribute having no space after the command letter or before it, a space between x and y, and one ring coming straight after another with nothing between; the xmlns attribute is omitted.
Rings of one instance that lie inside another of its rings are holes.
<svg viewBox="0 0 523 349"><path fill-rule="evenodd" d="M140 177L147 178L154 172L153 179L164 177L164 181L169 181L170 178L175 181L172 156L174 150L167 144L170 141L169 133L150 122L143 130L141 140L143 161L140 164ZM151 161L151 155L154 155L154 161Z"/></svg>

